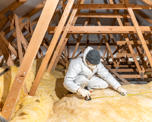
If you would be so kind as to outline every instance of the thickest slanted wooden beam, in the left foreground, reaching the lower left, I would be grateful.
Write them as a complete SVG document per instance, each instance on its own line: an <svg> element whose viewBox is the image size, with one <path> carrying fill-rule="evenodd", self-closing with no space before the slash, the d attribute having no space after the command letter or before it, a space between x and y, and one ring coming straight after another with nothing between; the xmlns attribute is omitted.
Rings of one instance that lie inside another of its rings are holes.
<svg viewBox="0 0 152 122"><path fill-rule="evenodd" d="M12 84L12 88L2 108L2 115L8 120L10 119L11 114L14 111L27 72L32 66L34 58L47 31L47 27L49 26L50 20L52 19L58 2L59 0L47 0L43 8L38 24L31 38L30 44L26 50L26 54L23 58L22 64L18 70L15 80Z"/></svg>

